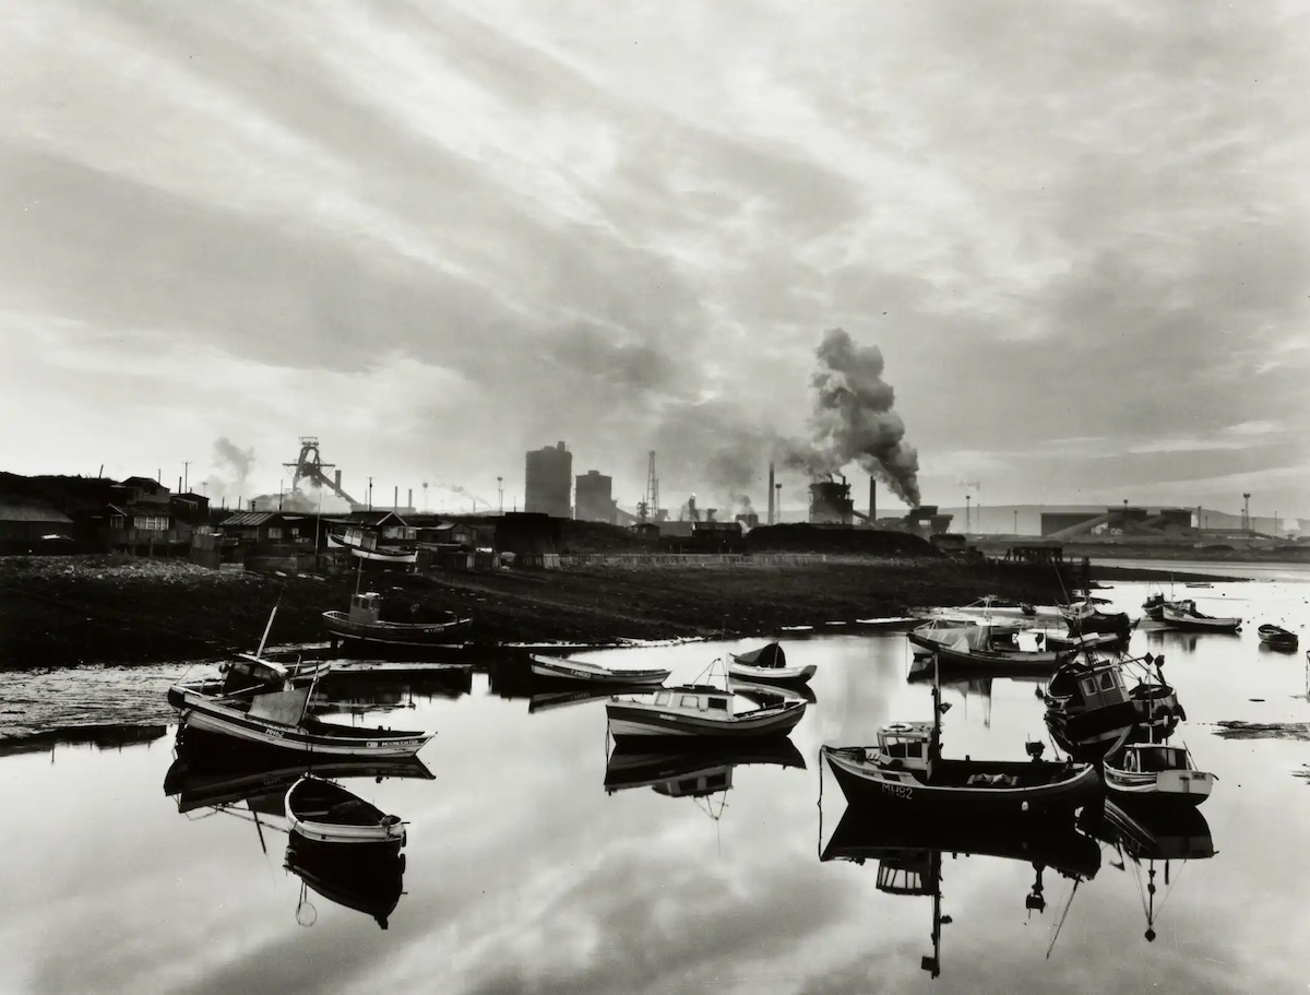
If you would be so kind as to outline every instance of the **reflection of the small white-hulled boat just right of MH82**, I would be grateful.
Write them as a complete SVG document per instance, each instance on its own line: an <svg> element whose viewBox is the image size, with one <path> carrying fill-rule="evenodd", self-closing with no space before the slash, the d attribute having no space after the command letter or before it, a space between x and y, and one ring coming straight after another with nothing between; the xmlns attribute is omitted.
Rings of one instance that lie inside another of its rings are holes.
<svg viewBox="0 0 1310 995"><path fill-rule="evenodd" d="M1163 864L1165 888L1169 889L1174 863L1208 860L1216 852L1209 823L1193 808L1148 808L1133 800L1107 798L1103 810L1083 813L1082 829L1115 847L1120 863L1111 867L1124 870L1132 864L1146 914L1148 943L1155 939L1157 864ZM1161 899L1161 906L1163 903Z"/></svg>

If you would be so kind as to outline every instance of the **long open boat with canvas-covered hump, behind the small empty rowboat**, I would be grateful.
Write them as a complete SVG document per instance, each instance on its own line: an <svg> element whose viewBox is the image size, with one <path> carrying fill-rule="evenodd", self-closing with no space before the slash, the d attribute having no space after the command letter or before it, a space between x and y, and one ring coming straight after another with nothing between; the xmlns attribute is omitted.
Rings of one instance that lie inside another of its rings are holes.
<svg viewBox="0 0 1310 995"><path fill-rule="evenodd" d="M263 690L253 695L182 693L178 734L217 737L233 749L316 758L413 756L434 735L313 718L307 708L313 684L295 686L284 669L280 674L271 670L262 683Z"/></svg>

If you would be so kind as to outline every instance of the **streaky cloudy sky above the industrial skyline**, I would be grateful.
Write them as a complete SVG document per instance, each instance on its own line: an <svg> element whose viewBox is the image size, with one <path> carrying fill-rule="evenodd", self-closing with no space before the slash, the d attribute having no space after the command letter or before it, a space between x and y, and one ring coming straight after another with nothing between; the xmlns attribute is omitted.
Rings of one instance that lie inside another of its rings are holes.
<svg viewBox="0 0 1310 995"><path fill-rule="evenodd" d="M842 328L926 502L1310 515L1307 67L1290 0L20 3L0 469L758 505Z"/></svg>

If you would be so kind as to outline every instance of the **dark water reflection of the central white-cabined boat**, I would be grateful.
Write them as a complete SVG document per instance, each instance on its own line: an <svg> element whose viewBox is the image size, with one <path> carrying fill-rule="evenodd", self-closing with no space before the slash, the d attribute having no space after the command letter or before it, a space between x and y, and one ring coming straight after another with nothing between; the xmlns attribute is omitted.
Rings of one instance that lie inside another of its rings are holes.
<svg viewBox="0 0 1310 995"><path fill-rule="evenodd" d="M743 764L804 768L806 760L790 739L668 751L616 743L605 763L605 792L654 788L671 797L714 793L732 787L732 768Z"/></svg>

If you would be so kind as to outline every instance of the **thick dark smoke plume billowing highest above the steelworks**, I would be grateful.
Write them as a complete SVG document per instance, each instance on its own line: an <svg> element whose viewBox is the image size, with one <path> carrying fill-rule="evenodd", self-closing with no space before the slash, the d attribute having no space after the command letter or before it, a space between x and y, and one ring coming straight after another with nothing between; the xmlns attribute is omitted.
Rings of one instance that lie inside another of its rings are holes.
<svg viewBox="0 0 1310 995"><path fill-rule="evenodd" d="M834 328L824 333L815 355L811 444L783 443L782 463L811 477L831 476L858 463L907 505L918 507L918 452L903 442L905 423L892 410L895 392L883 380L882 351L857 346Z"/></svg>

